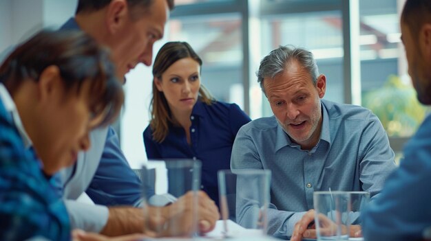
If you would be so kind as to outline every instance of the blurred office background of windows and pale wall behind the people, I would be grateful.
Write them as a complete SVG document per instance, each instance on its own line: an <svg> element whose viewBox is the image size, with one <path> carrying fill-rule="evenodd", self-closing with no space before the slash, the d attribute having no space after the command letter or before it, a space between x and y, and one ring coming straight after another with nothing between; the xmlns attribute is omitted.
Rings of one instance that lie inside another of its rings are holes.
<svg viewBox="0 0 431 241"><path fill-rule="evenodd" d="M370 108L400 153L428 109L416 100L400 40L404 0L176 0L156 43L187 41L203 60L202 83L218 100L236 102L252 119L272 115L255 78L260 60L279 45L311 49L327 77L325 99ZM0 0L0 52L41 27L59 27L76 0ZM127 75L116 128L132 166L145 161L151 69Z"/></svg>

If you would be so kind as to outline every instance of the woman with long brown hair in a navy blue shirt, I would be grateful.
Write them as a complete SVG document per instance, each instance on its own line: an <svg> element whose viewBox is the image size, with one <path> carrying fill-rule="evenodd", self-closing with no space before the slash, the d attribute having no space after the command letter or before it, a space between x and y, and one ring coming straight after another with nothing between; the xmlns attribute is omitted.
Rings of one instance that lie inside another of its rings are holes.
<svg viewBox="0 0 431 241"><path fill-rule="evenodd" d="M200 159L202 190L218 203L217 172L230 168L236 133L250 118L213 99L200 82L202 60L185 42L162 46L154 60L148 159Z"/></svg>

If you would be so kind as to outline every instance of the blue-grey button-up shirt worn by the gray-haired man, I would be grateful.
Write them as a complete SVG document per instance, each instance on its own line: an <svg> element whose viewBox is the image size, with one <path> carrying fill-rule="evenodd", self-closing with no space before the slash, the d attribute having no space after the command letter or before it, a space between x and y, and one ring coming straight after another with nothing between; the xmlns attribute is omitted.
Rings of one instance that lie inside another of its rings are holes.
<svg viewBox="0 0 431 241"><path fill-rule="evenodd" d="M364 190L375 196L396 167L386 132L371 111L321 102L322 133L310 151L293 143L274 116L242 126L233 144L232 170L272 172L269 234L277 238L290 237L295 223L313 209L313 192Z"/></svg>

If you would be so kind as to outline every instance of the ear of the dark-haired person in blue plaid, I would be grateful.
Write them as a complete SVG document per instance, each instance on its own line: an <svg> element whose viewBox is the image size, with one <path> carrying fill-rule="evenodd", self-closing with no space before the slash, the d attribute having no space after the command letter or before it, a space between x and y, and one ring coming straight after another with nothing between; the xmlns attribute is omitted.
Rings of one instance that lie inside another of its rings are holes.
<svg viewBox="0 0 431 241"><path fill-rule="evenodd" d="M63 82L61 81L60 69L55 65L50 65L43 69L39 76L38 97L41 101L52 101L53 95L61 95Z"/></svg>

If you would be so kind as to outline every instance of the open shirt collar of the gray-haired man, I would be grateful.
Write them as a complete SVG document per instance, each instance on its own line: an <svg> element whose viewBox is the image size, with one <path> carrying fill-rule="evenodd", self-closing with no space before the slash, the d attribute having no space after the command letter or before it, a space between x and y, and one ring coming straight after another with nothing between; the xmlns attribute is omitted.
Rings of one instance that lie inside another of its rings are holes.
<svg viewBox="0 0 431 241"><path fill-rule="evenodd" d="M322 122L322 132L320 133L320 139L328 142L329 146L331 144L330 141L330 128L329 128L329 116L328 111L326 111L326 106L324 102L321 100L321 108L322 108L322 116L323 116L323 122ZM275 118L275 117L274 117ZM275 119L275 122L277 122L277 119ZM280 124L277 122L277 140L275 144L275 151L280 150L281 148L284 148L284 146L291 146L293 148L300 149L300 146L298 144L295 144L291 141L291 138L288 137L288 135L284 132L283 128L280 126ZM317 142L317 144L319 144ZM316 145L317 146L317 145ZM315 148L311 150L313 152Z"/></svg>

